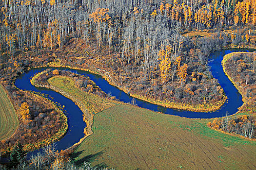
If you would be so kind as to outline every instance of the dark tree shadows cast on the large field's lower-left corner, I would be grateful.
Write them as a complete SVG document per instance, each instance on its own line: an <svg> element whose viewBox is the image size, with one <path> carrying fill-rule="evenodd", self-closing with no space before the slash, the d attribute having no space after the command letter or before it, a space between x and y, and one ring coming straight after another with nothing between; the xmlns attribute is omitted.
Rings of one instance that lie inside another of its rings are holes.
<svg viewBox="0 0 256 170"><path fill-rule="evenodd" d="M74 158L75 158L75 157L78 157L80 154L82 154L83 151L84 151L84 150L82 150L82 151L80 151L80 152L77 152L77 153L73 153L73 154L71 155L71 158L74 160ZM100 155L102 155L103 153L104 153L103 151L100 151L100 152L95 153L95 154L89 154L89 155L84 156L84 157L82 157L81 159L79 159L79 160L77 160L77 161L74 161L74 162L75 162L78 166L82 165L84 162L89 162L89 163L91 163L91 162L93 162L94 160L96 160L97 157L100 156ZM105 164L102 164L102 163L101 163L101 164L98 164L97 166L100 167L100 168L103 168L103 167L105 167Z"/></svg>

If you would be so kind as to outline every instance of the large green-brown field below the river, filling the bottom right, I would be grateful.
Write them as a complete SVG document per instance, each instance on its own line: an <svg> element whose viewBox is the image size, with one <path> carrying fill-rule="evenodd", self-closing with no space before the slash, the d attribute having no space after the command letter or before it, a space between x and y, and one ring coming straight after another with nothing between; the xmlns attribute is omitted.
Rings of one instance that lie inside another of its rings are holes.
<svg viewBox="0 0 256 170"><path fill-rule="evenodd" d="M212 130L208 121L117 105L94 116L94 133L74 161L116 170L256 169L256 142Z"/></svg>

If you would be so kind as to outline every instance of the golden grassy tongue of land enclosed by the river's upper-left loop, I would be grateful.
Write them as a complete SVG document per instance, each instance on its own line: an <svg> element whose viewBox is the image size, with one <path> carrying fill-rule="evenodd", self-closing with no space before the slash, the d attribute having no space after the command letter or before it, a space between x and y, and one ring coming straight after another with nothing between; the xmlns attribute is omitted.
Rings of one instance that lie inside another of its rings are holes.
<svg viewBox="0 0 256 170"><path fill-rule="evenodd" d="M54 71L57 73L53 74ZM76 74L78 76L75 77L76 80L86 82L85 87L78 87L75 84L74 75L71 72L46 70L39 72L31 79L32 85L52 89L71 99L81 109L83 121L86 123L86 127L84 128L85 136L78 143L74 144L72 148L78 146L84 138L93 134L91 127L95 114L116 104L120 104L120 102L106 99L106 94L89 78Z"/></svg>

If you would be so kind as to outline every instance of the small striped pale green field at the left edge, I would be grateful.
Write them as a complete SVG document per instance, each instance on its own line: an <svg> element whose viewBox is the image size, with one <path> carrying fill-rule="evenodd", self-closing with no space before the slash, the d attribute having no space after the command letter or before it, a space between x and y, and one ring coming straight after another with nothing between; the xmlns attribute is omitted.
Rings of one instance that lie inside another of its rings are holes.
<svg viewBox="0 0 256 170"><path fill-rule="evenodd" d="M0 85L0 140L12 136L18 125L14 107Z"/></svg>

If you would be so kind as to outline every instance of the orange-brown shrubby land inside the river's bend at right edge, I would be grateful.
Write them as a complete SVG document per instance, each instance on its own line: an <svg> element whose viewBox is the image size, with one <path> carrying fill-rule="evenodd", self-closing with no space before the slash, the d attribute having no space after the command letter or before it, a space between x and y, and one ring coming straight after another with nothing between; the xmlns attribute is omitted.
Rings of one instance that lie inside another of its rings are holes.
<svg viewBox="0 0 256 170"><path fill-rule="evenodd" d="M256 114L256 53L235 52L224 56L223 69L243 97L241 113Z"/></svg>

